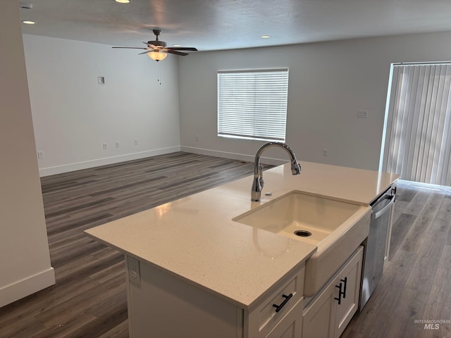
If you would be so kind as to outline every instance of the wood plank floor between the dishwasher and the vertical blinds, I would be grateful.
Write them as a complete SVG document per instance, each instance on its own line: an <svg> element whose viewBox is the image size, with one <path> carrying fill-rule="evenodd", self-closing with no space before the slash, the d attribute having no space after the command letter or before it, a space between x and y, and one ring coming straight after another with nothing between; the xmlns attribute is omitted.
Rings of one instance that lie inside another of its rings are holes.
<svg viewBox="0 0 451 338"><path fill-rule="evenodd" d="M342 338L451 337L451 192L402 182L397 195L382 280Z"/></svg>

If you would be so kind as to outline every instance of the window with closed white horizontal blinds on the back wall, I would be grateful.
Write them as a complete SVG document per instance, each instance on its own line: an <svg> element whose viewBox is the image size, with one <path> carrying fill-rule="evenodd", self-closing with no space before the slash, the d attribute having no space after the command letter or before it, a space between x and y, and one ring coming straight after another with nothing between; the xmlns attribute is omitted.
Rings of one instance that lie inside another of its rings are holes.
<svg viewBox="0 0 451 338"><path fill-rule="evenodd" d="M218 136L285 142L288 68L218 71Z"/></svg>

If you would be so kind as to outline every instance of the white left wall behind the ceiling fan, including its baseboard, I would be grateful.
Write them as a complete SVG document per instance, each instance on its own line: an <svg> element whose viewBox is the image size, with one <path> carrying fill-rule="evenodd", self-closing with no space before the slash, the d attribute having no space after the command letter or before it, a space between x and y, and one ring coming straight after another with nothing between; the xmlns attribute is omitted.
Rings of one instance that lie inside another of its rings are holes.
<svg viewBox="0 0 451 338"><path fill-rule="evenodd" d="M136 49L23 39L41 175L180 149L176 56L159 63L159 84L156 61Z"/></svg>

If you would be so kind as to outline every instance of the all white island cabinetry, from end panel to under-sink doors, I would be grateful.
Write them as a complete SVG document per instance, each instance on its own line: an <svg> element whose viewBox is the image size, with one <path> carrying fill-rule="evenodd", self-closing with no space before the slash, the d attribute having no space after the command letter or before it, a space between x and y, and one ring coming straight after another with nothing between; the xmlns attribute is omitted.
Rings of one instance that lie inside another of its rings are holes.
<svg viewBox="0 0 451 338"><path fill-rule="evenodd" d="M360 246L306 307L304 263L243 308L140 262L140 284L128 275L130 338L340 337L357 311L362 256Z"/></svg>

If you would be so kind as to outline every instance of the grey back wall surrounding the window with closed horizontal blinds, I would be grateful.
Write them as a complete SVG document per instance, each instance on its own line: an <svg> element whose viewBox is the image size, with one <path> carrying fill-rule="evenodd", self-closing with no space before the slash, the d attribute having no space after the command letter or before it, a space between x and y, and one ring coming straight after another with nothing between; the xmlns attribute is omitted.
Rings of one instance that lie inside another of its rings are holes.
<svg viewBox="0 0 451 338"><path fill-rule="evenodd" d="M181 58L181 148L251 160L263 142L216 136L216 72L288 67L287 143L299 161L378 170L390 63L450 60L450 40L447 32L212 51ZM368 111L368 118L357 118L358 110ZM323 149L328 149L327 157ZM268 156L286 157L283 151Z"/></svg>

